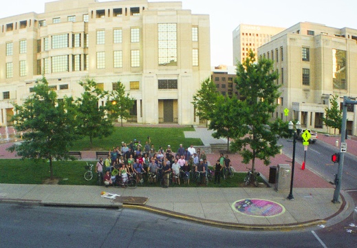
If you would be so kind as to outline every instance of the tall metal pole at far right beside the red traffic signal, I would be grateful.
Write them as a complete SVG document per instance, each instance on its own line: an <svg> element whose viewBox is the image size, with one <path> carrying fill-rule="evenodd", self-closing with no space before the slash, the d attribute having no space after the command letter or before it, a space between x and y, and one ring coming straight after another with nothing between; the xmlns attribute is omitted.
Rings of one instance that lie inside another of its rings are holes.
<svg viewBox="0 0 357 248"><path fill-rule="evenodd" d="M343 107L342 107L342 127L341 127L341 142L340 142L340 159L338 161L338 172L336 176L336 189L334 191L334 198L332 203L340 203L338 198L340 197L340 189L342 183L342 172L343 172L343 160L345 158L346 152L346 125L347 125L347 105L357 104L357 101L352 101L349 96L343 96Z"/></svg>

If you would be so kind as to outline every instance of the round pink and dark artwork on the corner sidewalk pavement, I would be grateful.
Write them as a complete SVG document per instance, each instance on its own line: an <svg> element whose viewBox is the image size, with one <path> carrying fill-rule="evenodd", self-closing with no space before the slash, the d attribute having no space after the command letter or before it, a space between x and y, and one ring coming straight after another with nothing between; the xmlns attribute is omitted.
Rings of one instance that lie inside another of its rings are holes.
<svg viewBox="0 0 357 248"><path fill-rule="evenodd" d="M242 199L232 203L232 209L252 217L276 217L285 212L285 207L271 200Z"/></svg>

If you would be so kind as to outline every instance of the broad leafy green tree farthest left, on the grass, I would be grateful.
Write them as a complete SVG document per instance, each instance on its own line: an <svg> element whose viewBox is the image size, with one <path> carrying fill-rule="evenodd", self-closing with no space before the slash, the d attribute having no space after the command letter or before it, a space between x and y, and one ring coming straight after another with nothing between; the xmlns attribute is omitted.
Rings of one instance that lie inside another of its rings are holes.
<svg viewBox="0 0 357 248"><path fill-rule="evenodd" d="M72 98L57 99L50 90L45 77L34 86L34 94L23 105L14 103L12 116L14 128L23 133L23 142L8 148L17 156L50 161L50 176L53 178L52 161L68 159L69 145L76 136L76 107Z"/></svg>

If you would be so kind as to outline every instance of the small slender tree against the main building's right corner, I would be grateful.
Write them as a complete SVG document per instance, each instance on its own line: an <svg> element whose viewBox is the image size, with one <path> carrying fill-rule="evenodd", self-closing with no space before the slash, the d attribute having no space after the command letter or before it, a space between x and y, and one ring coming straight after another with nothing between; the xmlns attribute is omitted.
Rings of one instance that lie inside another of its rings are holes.
<svg viewBox="0 0 357 248"><path fill-rule="evenodd" d="M210 112L213 110L213 105L219 93L217 92L217 87L213 81L209 78L205 79L201 83L200 89L193 96L193 106L196 109L196 115L200 119L207 121L210 119Z"/></svg>

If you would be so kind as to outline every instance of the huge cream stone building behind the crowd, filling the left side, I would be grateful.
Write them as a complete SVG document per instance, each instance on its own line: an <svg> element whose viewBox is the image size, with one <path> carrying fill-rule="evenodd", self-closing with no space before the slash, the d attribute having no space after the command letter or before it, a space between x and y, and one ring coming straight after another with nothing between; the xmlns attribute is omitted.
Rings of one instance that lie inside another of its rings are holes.
<svg viewBox="0 0 357 248"><path fill-rule="evenodd" d="M181 2L53 1L0 19L0 61L1 125L41 74L59 98L80 96L87 77L109 91L121 81L136 99L129 121L195 124L192 96L210 76L209 17Z"/></svg>

